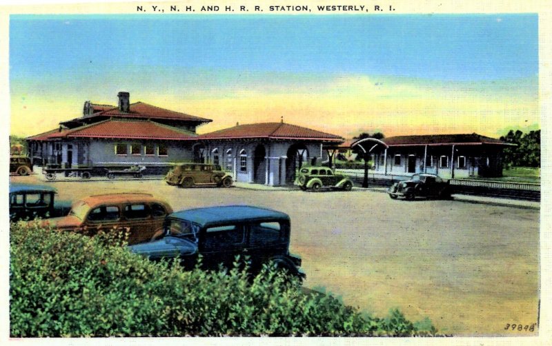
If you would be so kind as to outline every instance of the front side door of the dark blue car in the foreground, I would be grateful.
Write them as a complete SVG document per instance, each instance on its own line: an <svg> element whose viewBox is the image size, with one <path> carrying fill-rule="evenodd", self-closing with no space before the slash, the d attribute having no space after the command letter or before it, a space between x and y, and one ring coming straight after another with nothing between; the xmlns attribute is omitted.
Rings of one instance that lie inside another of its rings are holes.
<svg viewBox="0 0 552 346"><path fill-rule="evenodd" d="M231 268L235 256L243 254L245 243L245 230L241 223L208 226L201 231L199 253L206 267L215 269L222 263Z"/></svg>

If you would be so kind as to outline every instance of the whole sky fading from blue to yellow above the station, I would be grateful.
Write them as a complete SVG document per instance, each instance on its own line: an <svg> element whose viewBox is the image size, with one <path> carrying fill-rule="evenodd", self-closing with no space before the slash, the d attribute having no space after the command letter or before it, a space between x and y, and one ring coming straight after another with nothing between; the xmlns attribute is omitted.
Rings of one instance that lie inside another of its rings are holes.
<svg viewBox="0 0 552 346"><path fill-rule="evenodd" d="M130 101L213 119L497 137L540 128L537 14L12 15L11 134Z"/></svg>

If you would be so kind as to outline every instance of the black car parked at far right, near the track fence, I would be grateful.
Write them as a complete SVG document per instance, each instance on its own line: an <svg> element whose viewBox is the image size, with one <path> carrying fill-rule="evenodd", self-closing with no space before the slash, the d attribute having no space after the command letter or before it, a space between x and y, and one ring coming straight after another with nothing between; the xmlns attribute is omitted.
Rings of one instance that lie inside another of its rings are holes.
<svg viewBox="0 0 552 346"><path fill-rule="evenodd" d="M387 190L392 199L404 197L412 201L416 197L448 199L451 197L451 186L433 174L415 174L411 180L394 183Z"/></svg>

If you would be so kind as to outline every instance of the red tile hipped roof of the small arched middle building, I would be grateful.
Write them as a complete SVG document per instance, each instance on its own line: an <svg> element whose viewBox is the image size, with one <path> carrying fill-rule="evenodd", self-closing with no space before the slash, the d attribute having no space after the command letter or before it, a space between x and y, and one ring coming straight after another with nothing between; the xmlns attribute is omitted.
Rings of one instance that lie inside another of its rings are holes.
<svg viewBox="0 0 552 346"><path fill-rule="evenodd" d="M287 123L254 123L236 125L215 132L199 135L199 139L242 139L242 138L269 138L269 139L316 139L322 141L342 142L343 139L335 134L328 134L301 126Z"/></svg>

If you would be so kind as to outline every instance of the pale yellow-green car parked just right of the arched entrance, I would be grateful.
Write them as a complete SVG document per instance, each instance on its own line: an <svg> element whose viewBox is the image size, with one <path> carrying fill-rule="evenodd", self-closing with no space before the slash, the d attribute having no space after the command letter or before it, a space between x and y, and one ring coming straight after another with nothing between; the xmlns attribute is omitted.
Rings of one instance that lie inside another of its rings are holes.
<svg viewBox="0 0 552 346"><path fill-rule="evenodd" d="M319 191L322 187L351 191L353 181L345 174L334 173L327 167L303 167L299 170L295 185L299 185L303 191Z"/></svg>

